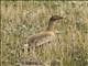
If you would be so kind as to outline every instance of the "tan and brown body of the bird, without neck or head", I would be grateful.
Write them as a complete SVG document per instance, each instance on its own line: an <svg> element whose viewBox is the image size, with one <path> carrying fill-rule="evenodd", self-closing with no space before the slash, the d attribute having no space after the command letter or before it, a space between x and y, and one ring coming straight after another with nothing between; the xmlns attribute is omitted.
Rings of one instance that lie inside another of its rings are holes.
<svg viewBox="0 0 88 66"><path fill-rule="evenodd" d="M40 46L54 40L54 32L43 32L32 35L28 38L29 46Z"/></svg>

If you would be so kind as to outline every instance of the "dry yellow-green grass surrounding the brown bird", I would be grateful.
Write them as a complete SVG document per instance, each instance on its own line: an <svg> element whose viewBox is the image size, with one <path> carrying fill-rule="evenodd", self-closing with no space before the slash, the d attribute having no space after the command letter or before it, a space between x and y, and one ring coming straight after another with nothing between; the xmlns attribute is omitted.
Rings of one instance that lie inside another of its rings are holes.
<svg viewBox="0 0 88 66"><path fill-rule="evenodd" d="M16 52L19 45L45 30L54 14L67 19L55 24L58 43L36 50L38 59L45 64L58 59L57 66L88 66L88 1L1 1L2 66L16 66L25 56Z"/></svg>

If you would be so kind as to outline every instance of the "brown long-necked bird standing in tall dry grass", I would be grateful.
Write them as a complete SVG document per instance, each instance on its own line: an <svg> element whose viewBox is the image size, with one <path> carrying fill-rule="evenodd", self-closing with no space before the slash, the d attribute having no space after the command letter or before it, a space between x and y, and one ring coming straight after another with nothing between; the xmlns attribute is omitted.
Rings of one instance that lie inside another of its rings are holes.
<svg viewBox="0 0 88 66"><path fill-rule="evenodd" d="M52 42L55 37L55 32L53 31L54 23L56 22L56 20L61 20L61 19L64 18L59 15L52 15L52 18L48 21L48 26L46 28L46 30L44 32L40 32L35 35L29 36L26 44L29 44L29 46L35 47Z"/></svg>

